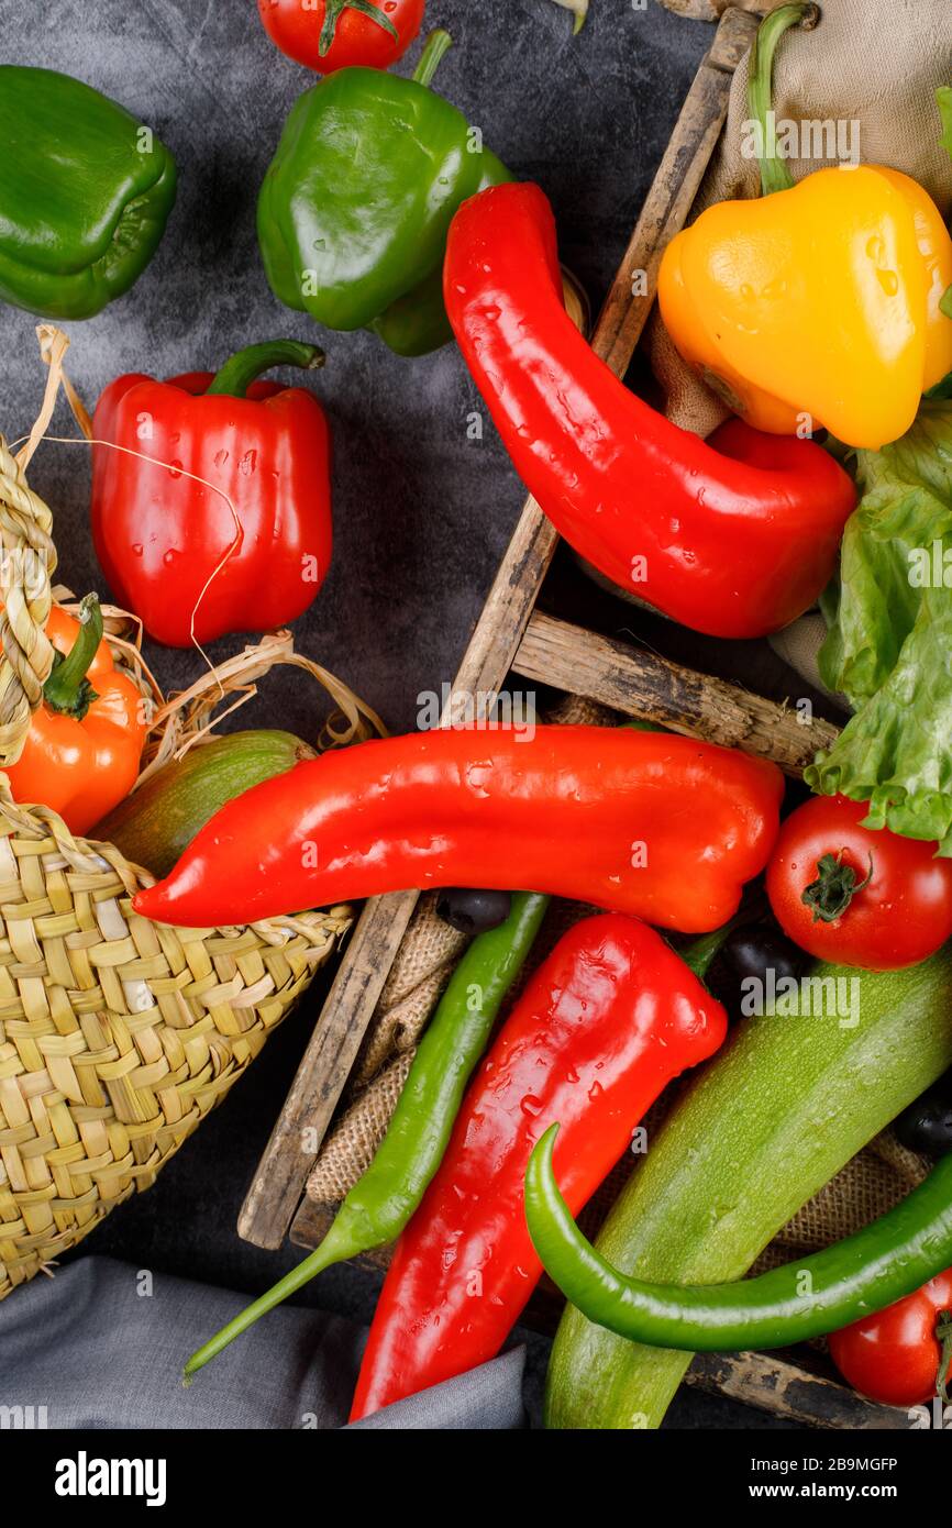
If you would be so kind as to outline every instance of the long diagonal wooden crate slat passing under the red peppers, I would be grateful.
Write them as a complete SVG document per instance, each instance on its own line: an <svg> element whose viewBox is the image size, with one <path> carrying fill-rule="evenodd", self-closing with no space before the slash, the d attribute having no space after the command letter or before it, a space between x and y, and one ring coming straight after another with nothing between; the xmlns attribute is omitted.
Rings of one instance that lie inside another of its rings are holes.
<svg viewBox="0 0 952 1528"><path fill-rule="evenodd" d="M683 226L727 113L730 76L755 23L740 11L721 20L619 266L591 336L593 348L623 376L654 299L665 244ZM648 274L646 292L634 274ZM558 536L529 498L474 630L454 691L498 689L512 666ZM280 1247L321 1140L417 902L416 892L373 898L350 947L284 1108L258 1163L238 1216L238 1233L258 1247Z"/></svg>

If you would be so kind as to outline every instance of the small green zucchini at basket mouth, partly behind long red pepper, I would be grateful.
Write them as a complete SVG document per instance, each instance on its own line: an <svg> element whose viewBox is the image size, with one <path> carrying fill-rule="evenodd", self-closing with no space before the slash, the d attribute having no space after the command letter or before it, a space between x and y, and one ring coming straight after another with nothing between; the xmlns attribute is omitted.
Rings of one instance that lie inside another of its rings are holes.
<svg viewBox="0 0 952 1528"><path fill-rule="evenodd" d="M313 756L292 732L229 732L197 743L150 775L89 836L115 843L153 876L168 876L219 807Z"/></svg>

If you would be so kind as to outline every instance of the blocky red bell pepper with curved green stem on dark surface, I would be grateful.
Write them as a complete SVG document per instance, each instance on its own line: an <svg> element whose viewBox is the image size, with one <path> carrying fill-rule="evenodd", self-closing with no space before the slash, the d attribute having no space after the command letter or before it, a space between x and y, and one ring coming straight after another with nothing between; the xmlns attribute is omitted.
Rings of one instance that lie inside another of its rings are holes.
<svg viewBox="0 0 952 1528"><path fill-rule="evenodd" d="M274 341L217 374L131 373L102 393L93 435L112 445L93 446L93 541L156 642L269 631L312 604L332 547L327 419L304 388L254 379L321 362L315 345Z"/></svg>

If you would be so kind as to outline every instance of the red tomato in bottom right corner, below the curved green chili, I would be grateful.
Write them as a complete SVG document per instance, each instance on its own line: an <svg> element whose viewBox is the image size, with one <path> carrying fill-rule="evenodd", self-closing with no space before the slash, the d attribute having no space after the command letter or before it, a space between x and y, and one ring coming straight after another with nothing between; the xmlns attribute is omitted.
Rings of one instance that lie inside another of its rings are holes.
<svg viewBox="0 0 952 1528"><path fill-rule="evenodd" d="M863 1316L830 1337L836 1368L850 1384L886 1406L920 1406L935 1395L940 1311L952 1308L952 1268L915 1294Z"/></svg>

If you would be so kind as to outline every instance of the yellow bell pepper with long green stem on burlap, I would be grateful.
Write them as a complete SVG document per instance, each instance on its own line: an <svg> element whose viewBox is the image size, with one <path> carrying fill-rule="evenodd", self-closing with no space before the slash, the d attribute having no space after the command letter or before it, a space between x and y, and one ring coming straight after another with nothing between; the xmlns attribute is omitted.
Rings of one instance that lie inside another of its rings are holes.
<svg viewBox="0 0 952 1528"><path fill-rule="evenodd" d="M876 449L906 432L923 391L952 371L952 319L940 310L952 238L897 170L840 165L795 186L773 163L767 189L778 174L790 189L721 202L671 241L659 274L665 327L758 429L825 426Z"/></svg>

